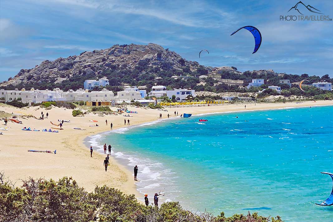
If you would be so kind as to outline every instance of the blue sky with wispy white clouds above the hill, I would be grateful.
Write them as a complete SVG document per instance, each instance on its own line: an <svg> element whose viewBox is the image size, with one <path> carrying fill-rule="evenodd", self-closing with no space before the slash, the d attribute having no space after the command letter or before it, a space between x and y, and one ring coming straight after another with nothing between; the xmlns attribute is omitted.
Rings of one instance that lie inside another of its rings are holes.
<svg viewBox="0 0 333 222"><path fill-rule="evenodd" d="M333 18L333 1L302 0ZM295 1L0 0L0 81L44 60L155 43L201 65L333 77L333 21L280 21ZM304 15L320 15L301 11ZM255 26L262 43L243 26ZM198 57L200 50L206 49Z"/></svg>

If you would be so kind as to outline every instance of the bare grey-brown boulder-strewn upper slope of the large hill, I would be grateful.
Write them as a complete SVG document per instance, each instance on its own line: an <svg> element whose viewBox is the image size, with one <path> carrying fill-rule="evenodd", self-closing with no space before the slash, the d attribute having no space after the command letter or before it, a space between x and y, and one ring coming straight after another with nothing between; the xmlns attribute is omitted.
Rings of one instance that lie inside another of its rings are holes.
<svg viewBox="0 0 333 222"><path fill-rule="evenodd" d="M123 70L134 69L142 61L148 62L148 66L162 69L180 69L189 66L194 70L199 67L197 62L182 59L177 53L153 43L114 45L105 50L83 52L77 56L58 58L54 61L45 60L33 69L20 70L14 78L9 78L0 86L36 82L61 83L73 75L98 75L103 70L114 67Z"/></svg>

